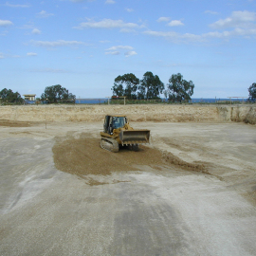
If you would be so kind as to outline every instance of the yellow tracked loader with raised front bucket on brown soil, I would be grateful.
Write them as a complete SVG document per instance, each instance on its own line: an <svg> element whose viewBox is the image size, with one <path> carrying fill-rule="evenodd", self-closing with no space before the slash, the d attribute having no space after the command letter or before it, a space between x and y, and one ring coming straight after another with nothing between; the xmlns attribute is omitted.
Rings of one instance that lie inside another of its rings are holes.
<svg viewBox="0 0 256 256"><path fill-rule="evenodd" d="M119 152L119 146L138 151L138 145L149 143L150 130L136 130L130 126L124 115L107 115L101 132L101 148Z"/></svg>

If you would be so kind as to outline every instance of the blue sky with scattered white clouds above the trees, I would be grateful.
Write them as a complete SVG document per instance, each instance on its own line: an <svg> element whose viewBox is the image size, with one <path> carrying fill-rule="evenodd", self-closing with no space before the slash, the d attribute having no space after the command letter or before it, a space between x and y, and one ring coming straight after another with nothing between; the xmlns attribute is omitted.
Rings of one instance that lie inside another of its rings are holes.
<svg viewBox="0 0 256 256"><path fill-rule="evenodd" d="M247 96L256 0L0 0L0 90L104 98L119 75L181 73L192 98Z"/></svg>

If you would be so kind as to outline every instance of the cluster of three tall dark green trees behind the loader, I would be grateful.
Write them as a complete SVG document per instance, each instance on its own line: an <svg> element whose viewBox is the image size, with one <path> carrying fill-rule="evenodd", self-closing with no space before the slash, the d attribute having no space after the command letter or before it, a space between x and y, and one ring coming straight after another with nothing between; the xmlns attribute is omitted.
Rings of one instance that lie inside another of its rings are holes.
<svg viewBox="0 0 256 256"><path fill-rule="evenodd" d="M157 75L147 71L141 80L133 73L118 76L111 88L114 98L126 97L128 100L158 100L164 94L169 101L191 100L194 84L186 81L180 73L169 79L167 87Z"/></svg>

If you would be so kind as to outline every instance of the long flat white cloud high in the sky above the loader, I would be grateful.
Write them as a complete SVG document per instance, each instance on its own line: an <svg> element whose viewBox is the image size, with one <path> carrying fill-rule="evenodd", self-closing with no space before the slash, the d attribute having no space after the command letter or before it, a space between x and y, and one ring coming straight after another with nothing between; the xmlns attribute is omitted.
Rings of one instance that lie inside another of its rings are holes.
<svg viewBox="0 0 256 256"><path fill-rule="evenodd" d="M136 28L139 27L135 23L124 23L122 20L111 20L111 19L103 19L100 22L88 21L82 22L79 27L73 28Z"/></svg>

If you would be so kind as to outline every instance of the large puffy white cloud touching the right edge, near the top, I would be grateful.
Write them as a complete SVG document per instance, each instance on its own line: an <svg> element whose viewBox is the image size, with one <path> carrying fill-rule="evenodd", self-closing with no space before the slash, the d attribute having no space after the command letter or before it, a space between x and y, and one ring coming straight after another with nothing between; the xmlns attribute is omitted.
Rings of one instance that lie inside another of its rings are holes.
<svg viewBox="0 0 256 256"><path fill-rule="evenodd" d="M231 16L226 19L220 19L211 24L210 27L221 29L227 27L248 27L256 21L256 12L251 11L233 11Z"/></svg>

